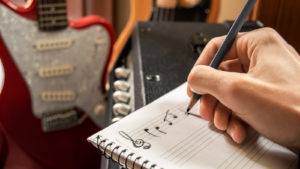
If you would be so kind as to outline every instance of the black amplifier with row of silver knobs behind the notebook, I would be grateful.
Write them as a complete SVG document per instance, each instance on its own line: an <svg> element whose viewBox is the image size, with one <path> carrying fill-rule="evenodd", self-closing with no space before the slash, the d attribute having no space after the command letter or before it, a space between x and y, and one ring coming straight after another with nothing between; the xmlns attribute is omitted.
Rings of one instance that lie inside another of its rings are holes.
<svg viewBox="0 0 300 169"><path fill-rule="evenodd" d="M110 74L107 124L184 83L205 44L225 35L231 25L138 22ZM260 22L247 22L242 31L262 26ZM109 168L118 166L109 163Z"/></svg>

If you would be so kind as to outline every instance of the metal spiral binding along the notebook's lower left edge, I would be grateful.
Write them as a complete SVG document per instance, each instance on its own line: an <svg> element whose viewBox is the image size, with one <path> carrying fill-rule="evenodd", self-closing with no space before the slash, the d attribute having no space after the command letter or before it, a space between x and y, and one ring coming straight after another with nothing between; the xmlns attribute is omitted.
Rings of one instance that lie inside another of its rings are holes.
<svg viewBox="0 0 300 169"><path fill-rule="evenodd" d="M113 159L113 154L116 154L116 153L114 153L114 152L117 151L121 146L116 146L116 147L114 147L114 148L112 149L111 153L109 154L109 153L107 152L108 148L109 148L109 147L112 147L112 145L113 145L113 144L116 144L116 143L110 142L110 143L108 143L108 144L105 145L105 142L108 141L107 139L101 140L101 139L100 139L100 138L101 138L100 135L98 135L96 138L97 138L97 149L98 149L98 151L100 152L101 155L103 155L103 156L104 156L105 158L107 158L107 159L111 159L111 160L113 160L114 162L117 162L119 165L121 165L122 167L125 167L126 169L130 169L130 168L127 166L127 162L128 162L128 159L134 155L134 153L128 154L128 155L126 156L126 158L125 158L125 164L122 165L122 164L120 163L121 155L122 155L123 153L125 153L126 151L128 151L128 150L127 150L127 149L123 149L123 150L118 154L117 160L115 160L115 159ZM101 149L100 149L101 144L103 144L102 147L104 148L103 153L101 153ZM135 165L137 164L137 162L138 162L141 158L142 158L141 156L138 156L138 157L136 157L136 158L133 160L133 164L132 164L132 168L133 168L133 169L135 168ZM140 169L143 169L143 167L144 167L145 165L147 165L148 163L150 163L149 160L143 161L143 162L142 162L142 165L141 165L141 167L140 167ZM155 167L157 167L157 165L156 165L156 164L152 164L152 165L150 166L150 169L154 169Z"/></svg>

